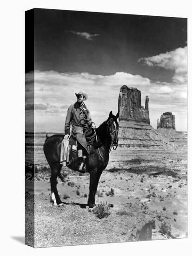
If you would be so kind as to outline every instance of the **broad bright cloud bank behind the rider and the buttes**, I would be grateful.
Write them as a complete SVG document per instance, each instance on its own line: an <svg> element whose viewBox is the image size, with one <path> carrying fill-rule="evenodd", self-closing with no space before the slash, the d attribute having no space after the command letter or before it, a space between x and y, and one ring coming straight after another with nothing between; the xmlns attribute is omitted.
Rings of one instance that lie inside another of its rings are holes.
<svg viewBox="0 0 192 256"><path fill-rule="evenodd" d="M31 88L30 79L27 88ZM109 112L118 111L119 89L123 85L135 87L141 91L141 102L145 105L145 97L149 96L150 120L156 128L157 119L163 112L172 111L176 115L176 128L185 130L185 122L179 122L177 115L186 119L186 83L154 82L141 75L117 72L113 75L94 75L88 73L59 73L55 71L35 71L34 91L26 92L27 104L44 105L45 109L35 108L35 121L39 131L63 132L66 111L76 101L75 93L84 90L88 94L85 101L93 121L98 126L106 120ZM34 96L34 97L33 97ZM34 102L35 100L35 102ZM29 103L28 103L29 102ZM28 107L30 108L30 107Z"/></svg>

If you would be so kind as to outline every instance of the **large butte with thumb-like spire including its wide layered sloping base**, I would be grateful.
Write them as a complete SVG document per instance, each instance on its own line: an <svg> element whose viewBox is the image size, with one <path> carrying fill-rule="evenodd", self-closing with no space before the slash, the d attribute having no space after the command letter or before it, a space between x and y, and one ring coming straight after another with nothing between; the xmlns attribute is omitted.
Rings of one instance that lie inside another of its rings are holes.
<svg viewBox="0 0 192 256"><path fill-rule="evenodd" d="M107 170L117 166L119 169L129 168L127 161L132 158L159 158L159 155L165 158L176 153L185 157L186 143L180 139L178 132L166 128L156 130L150 125L149 98L146 96L145 109L142 108L141 92L137 88L128 88L126 85L120 88L118 109L118 148L111 151ZM170 132L174 133L174 137L167 135Z"/></svg>

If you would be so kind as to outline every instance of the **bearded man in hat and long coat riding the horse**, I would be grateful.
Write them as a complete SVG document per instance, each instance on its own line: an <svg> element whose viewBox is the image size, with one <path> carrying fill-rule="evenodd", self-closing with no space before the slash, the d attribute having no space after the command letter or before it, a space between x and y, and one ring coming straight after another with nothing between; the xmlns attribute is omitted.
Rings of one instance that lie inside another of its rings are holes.
<svg viewBox="0 0 192 256"><path fill-rule="evenodd" d="M79 91L79 93L75 95L77 96L77 101L67 110L65 122L65 140L67 140L70 136L70 127L72 124L72 134L76 138L78 144L78 169L81 172L85 172L88 149L84 132L90 127L93 129L96 127L91 119L90 112L84 103L84 101L86 101L88 98L87 94L85 94L83 91Z"/></svg>

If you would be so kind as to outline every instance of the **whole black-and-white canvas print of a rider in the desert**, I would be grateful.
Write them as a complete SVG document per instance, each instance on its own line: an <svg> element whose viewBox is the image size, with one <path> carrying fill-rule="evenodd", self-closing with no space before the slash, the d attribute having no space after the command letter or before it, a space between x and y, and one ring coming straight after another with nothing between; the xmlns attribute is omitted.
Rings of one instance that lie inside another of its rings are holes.
<svg viewBox="0 0 192 256"><path fill-rule="evenodd" d="M187 19L35 8L26 36L26 244L187 238Z"/></svg>

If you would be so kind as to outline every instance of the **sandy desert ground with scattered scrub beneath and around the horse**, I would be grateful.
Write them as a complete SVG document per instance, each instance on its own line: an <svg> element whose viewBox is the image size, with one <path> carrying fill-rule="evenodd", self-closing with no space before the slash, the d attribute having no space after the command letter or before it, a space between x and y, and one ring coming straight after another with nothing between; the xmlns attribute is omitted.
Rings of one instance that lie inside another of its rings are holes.
<svg viewBox="0 0 192 256"><path fill-rule="evenodd" d="M64 182L58 191L65 203L50 202L50 168L43 154L45 135L35 138L35 175L32 175L33 146L26 136L26 223L31 217L30 199L35 189L35 247L142 240L145 224L151 223L151 239L187 237L187 154L153 148L118 148L111 151L103 171L96 204L108 205L108 216L99 218L87 210L89 174L63 167ZM142 229L143 228L143 229ZM145 240L145 234L144 238ZM26 233L30 242L30 232Z"/></svg>

